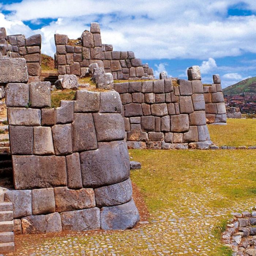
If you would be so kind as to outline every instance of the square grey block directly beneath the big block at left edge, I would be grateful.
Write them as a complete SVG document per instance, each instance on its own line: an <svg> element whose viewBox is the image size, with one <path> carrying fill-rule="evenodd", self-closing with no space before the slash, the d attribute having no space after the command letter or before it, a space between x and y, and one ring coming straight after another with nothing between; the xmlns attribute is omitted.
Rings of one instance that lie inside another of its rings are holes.
<svg viewBox="0 0 256 256"><path fill-rule="evenodd" d="M29 102L29 85L25 83L9 83L5 88L7 107L25 107Z"/></svg>

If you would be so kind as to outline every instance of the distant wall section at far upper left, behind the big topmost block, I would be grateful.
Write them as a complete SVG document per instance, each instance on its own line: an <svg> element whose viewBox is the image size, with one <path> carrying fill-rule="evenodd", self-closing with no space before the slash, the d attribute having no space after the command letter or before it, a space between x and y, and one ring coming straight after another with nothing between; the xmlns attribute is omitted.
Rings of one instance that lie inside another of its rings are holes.
<svg viewBox="0 0 256 256"><path fill-rule="evenodd" d="M31 82L41 74L41 35L6 35L5 29L0 28L0 53L2 57L25 58L27 71Z"/></svg>

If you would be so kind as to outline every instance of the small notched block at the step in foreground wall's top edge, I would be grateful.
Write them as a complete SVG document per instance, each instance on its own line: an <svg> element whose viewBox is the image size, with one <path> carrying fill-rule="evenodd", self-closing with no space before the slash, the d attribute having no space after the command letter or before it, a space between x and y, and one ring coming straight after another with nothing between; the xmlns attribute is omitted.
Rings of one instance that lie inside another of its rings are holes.
<svg viewBox="0 0 256 256"><path fill-rule="evenodd" d="M57 124L67 124L74 120L73 101L60 101L60 108L57 108L55 111Z"/></svg>

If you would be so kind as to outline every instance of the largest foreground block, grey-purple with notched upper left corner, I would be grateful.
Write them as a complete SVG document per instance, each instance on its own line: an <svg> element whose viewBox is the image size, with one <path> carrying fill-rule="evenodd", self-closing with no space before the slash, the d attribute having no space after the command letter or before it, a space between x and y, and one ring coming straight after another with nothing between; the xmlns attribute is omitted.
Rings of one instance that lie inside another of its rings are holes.
<svg viewBox="0 0 256 256"><path fill-rule="evenodd" d="M124 140L98 143L98 150L80 153L84 187L102 187L127 180L129 154Z"/></svg>

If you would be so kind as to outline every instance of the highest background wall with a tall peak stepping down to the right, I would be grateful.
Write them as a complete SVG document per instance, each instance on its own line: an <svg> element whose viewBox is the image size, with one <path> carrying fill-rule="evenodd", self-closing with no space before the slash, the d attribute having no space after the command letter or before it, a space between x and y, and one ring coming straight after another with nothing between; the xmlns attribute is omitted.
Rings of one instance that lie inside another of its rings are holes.
<svg viewBox="0 0 256 256"><path fill-rule="evenodd" d="M98 63L114 79L153 79L153 69L142 64L133 52L113 51L113 46L102 44L98 23L91 23L90 32L85 30L77 40L67 35L55 34L55 63L59 75L86 76L90 64Z"/></svg>

